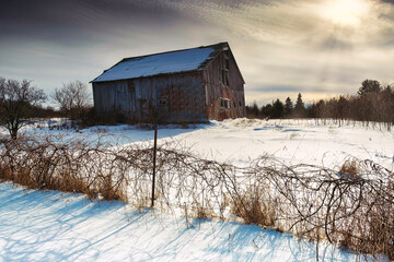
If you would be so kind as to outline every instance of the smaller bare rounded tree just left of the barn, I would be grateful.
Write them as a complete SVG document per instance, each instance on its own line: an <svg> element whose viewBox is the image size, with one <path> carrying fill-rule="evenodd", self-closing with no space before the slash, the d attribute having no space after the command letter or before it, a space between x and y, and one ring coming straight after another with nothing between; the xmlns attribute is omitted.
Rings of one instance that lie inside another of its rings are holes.
<svg viewBox="0 0 394 262"><path fill-rule="evenodd" d="M81 118L81 115L91 105L88 85L79 80L63 83L61 88L55 90L51 98L71 119Z"/></svg>

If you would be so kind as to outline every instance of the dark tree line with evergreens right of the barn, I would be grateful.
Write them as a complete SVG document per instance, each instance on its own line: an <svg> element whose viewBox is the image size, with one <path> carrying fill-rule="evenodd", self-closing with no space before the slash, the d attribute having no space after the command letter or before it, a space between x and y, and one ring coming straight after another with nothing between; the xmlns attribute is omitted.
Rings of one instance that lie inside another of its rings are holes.
<svg viewBox="0 0 394 262"><path fill-rule="evenodd" d="M339 121L376 121L387 127L394 123L394 84L382 84L376 80L364 80L356 95L340 95L305 105L301 93L296 105L290 97L258 107L246 106L248 118L332 118Z"/></svg>

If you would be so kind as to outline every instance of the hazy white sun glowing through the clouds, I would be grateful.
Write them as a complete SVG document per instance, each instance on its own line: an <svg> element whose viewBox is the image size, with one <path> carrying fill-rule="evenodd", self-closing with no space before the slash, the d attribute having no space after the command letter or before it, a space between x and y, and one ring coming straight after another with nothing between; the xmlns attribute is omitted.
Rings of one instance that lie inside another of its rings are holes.
<svg viewBox="0 0 394 262"><path fill-rule="evenodd" d="M357 26L369 10L368 0L325 0L321 14L334 24Z"/></svg>

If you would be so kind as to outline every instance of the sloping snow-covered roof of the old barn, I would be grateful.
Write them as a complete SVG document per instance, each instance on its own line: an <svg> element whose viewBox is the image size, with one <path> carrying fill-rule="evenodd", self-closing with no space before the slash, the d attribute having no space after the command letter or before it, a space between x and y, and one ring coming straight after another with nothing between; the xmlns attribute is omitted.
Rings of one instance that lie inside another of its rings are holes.
<svg viewBox="0 0 394 262"><path fill-rule="evenodd" d="M228 49L228 43L201 46L184 50L167 51L141 57L125 58L105 70L92 82L171 74L204 70L220 51Z"/></svg>

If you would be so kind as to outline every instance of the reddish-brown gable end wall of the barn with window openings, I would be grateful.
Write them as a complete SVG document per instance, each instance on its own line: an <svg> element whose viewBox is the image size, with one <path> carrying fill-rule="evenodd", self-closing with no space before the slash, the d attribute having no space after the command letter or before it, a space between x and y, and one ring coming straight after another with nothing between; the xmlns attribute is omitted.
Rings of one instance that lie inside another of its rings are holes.
<svg viewBox="0 0 394 262"><path fill-rule="evenodd" d="M229 58L228 84L222 70ZM227 119L246 117L244 81L231 50L222 51L205 70L206 108L209 119ZM222 107L222 99L230 100L230 108Z"/></svg>

